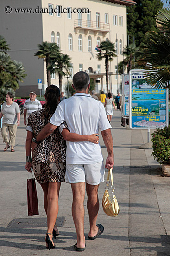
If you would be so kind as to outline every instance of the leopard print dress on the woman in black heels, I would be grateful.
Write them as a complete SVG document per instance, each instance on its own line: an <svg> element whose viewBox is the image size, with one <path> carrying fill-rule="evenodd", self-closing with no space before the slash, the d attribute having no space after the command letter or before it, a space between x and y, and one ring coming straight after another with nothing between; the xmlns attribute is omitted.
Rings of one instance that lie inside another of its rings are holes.
<svg viewBox="0 0 170 256"><path fill-rule="evenodd" d="M43 117L44 109L29 115L27 131L36 137L47 121ZM48 121L50 121L51 114ZM65 128L67 125L65 124ZM39 144L32 153L34 175L38 183L64 182L66 170L66 141L57 129Z"/></svg>

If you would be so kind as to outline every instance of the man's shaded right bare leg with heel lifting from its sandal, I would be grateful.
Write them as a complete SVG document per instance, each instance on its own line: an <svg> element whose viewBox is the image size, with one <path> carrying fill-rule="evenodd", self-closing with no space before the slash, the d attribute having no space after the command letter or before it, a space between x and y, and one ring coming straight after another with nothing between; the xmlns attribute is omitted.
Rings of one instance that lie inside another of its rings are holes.
<svg viewBox="0 0 170 256"><path fill-rule="evenodd" d="M90 222L90 231L88 236L90 237L94 237L98 232L98 227L96 226L99 212L98 188L99 185L94 186L86 183L86 192L88 195L87 208Z"/></svg>

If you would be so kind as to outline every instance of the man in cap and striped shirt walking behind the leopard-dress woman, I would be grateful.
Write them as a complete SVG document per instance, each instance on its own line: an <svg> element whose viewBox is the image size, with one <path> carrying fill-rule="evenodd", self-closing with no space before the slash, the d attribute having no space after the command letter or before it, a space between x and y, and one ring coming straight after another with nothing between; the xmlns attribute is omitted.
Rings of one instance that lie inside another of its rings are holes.
<svg viewBox="0 0 170 256"><path fill-rule="evenodd" d="M24 124L26 125L26 120L28 120L29 115L36 111L42 109L41 102L37 100L37 94L35 91L31 91L29 94L29 99L24 102ZM27 119L26 119L27 115Z"/></svg>

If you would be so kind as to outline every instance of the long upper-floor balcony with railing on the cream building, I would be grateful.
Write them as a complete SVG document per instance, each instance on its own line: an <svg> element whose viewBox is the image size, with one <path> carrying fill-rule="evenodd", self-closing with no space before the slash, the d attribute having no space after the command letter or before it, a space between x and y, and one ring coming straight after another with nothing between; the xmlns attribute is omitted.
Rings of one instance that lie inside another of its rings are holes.
<svg viewBox="0 0 170 256"><path fill-rule="evenodd" d="M110 24L103 23L99 21L92 21L92 20L74 20L74 28L77 29L84 29L87 31L95 31L95 32L104 32L108 33L110 31ZM88 33L87 33L88 34Z"/></svg>

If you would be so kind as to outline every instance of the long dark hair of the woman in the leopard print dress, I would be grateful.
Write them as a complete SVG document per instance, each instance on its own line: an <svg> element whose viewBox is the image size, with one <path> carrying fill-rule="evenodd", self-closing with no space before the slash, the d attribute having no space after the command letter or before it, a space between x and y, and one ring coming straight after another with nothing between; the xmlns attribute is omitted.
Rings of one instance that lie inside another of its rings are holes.
<svg viewBox="0 0 170 256"><path fill-rule="evenodd" d="M58 106L58 97L60 96L60 90L56 85L51 84L45 90L45 98L47 102L45 103L45 110L43 113L43 118L48 122L49 114L53 115Z"/></svg>

